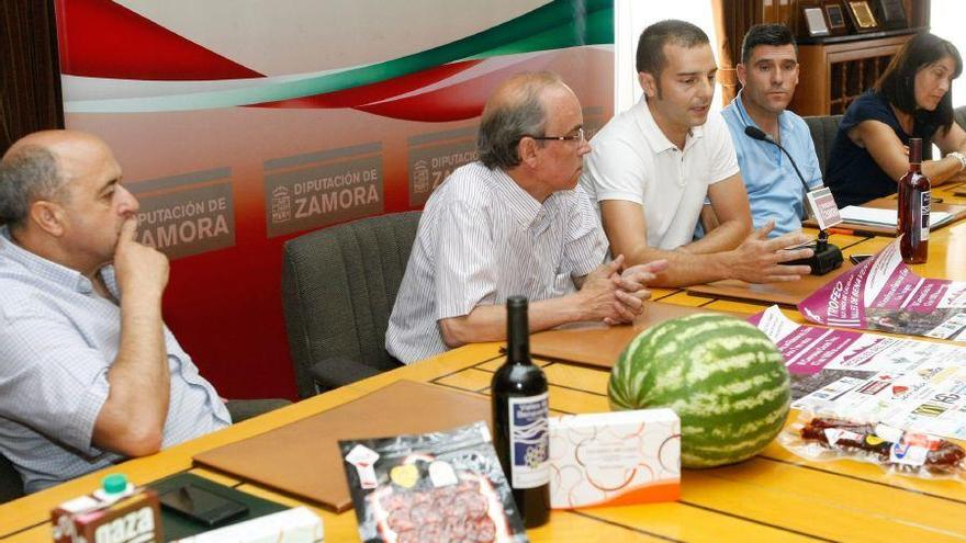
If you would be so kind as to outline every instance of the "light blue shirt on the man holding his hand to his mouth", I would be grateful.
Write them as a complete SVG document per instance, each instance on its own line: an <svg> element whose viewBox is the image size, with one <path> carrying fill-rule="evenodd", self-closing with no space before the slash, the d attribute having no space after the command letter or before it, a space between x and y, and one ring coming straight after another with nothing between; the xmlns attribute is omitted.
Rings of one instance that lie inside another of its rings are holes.
<svg viewBox="0 0 966 543"><path fill-rule="evenodd" d="M120 299L113 268L102 268L101 276ZM91 442L120 341L115 303L81 273L16 246L0 227L0 452L25 491L124 460ZM162 446L231 425L214 387L167 326L165 344L171 386Z"/></svg>

